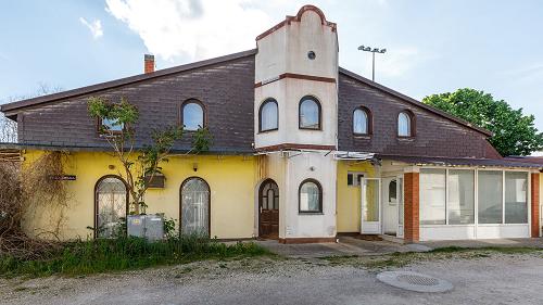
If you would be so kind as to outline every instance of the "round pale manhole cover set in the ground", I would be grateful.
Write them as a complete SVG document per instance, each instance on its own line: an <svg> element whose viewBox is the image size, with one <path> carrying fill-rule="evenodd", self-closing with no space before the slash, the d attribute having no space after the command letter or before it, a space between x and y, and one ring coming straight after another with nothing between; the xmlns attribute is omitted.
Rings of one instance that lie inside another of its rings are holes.
<svg viewBox="0 0 543 305"><path fill-rule="evenodd" d="M445 292L453 289L449 281L411 271L384 271L377 279L390 285L417 292Z"/></svg>

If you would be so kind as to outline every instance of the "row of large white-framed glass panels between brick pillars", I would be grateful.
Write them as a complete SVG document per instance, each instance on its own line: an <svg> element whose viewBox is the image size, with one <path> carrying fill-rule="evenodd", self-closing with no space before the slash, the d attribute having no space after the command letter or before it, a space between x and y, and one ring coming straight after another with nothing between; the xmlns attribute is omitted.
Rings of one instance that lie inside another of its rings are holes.
<svg viewBox="0 0 543 305"><path fill-rule="evenodd" d="M527 171L421 168L420 225L528 224L528 183Z"/></svg>

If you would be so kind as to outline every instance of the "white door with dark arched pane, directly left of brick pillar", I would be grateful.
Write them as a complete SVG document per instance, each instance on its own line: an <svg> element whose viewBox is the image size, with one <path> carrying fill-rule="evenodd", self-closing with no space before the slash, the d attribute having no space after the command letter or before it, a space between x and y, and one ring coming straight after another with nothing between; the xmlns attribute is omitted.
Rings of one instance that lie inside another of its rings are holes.
<svg viewBox="0 0 543 305"><path fill-rule="evenodd" d="M397 178L382 178L382 231L389 236L397 232Z"/></svg>

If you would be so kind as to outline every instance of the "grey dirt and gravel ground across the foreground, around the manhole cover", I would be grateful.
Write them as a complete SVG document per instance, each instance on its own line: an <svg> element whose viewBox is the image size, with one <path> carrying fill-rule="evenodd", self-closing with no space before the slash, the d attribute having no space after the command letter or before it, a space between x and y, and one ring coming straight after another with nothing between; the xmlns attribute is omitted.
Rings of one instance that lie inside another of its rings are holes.
<svg viewBox="0 0 543 305"><path fill-rule="evenodd" d="M374 259L262 257L80 278L0 279L0 304L543 304L542 252L442 254L403 267ZM455 288L404 291L376 279L384 269L427 274Z"/></svg>

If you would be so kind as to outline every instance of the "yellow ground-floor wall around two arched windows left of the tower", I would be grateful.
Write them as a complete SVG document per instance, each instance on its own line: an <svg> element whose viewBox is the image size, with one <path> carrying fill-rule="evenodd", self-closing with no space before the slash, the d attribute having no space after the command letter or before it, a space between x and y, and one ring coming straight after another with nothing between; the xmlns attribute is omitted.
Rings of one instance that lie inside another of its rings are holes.
<svg viewBox="0 0 543 305"><path fill-rule="evenodd" d="M26 151L25 166L47 152ZM180 187L190 177L204 179L210 186L211 237L219 239L251 238L254 228L254 189L256 166L253 156L180 155L162 164L166 177L164 189L149 189L147 213L164 213L179 226ZM197 170L194 170L197 167ZM92 238L94 227L94 187L106 175L124 177L117 160L105 152L70 152L65 154L64 175L75 176L66 185L65 208L38 205L24 219L29 236L53 238L56 224L61 240Z"/></svg>

